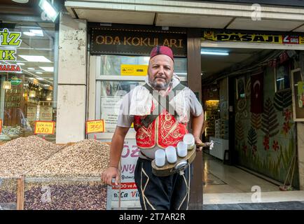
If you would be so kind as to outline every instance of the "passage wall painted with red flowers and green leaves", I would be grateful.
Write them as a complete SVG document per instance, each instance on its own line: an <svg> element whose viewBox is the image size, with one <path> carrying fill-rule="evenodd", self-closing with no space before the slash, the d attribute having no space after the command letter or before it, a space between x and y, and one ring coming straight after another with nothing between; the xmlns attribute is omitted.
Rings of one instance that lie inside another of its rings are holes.
<svg viewBox="0 0 304 224"><path fill-rule="evenodd" d="M286 105L282 109L277 109L278 106L274 105L275 69L266 66L263 72L263 113L251 113L251 73L244 75L244 78L246 95L239 99L235 97L237 163L284 183L296 151L296 125L292 120L292 105ZM271 122L265 122L263 117L271 117ZM271 129L273 136L265 134L265 129ZM293 186L298 188L298 161L294 167ZM293 167L290 176L292 170Z"/></svg>

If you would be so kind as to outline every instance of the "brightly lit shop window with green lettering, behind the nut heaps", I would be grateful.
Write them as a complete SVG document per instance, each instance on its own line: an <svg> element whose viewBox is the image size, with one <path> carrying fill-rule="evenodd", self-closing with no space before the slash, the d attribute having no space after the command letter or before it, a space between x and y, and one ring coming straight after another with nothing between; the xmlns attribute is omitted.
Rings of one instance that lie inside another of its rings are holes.
<svg viewBox="0 0 304 224"><path fill-rule="evenodd" d="M55 24L0 23L0 42L0 141L10 141L33 135L36 120L56 120Z"/></svg>

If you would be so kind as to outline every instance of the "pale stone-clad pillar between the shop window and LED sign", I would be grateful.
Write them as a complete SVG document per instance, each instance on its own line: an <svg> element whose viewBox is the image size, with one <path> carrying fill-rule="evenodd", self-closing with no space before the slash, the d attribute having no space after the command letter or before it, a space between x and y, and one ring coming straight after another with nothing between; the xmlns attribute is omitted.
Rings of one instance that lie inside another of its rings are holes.
<svg viewBox="0 0 304 224"><path fill-rule="evenodd" d="M87 22L60 15L56 143L85 139Z"/></svg>

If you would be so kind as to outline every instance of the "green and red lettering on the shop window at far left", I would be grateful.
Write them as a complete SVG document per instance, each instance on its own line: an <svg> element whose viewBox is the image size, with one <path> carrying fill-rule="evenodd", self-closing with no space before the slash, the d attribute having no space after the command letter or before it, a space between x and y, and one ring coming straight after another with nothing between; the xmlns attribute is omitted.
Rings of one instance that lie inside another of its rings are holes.
<svg viewBox="0 0 304 224"><path fill-rule="evenodd" d="M0 60L4 61L4 63L0 63L0 72L22 72L20 65L15 64L17 57L16 48L18 48L21 43L20 32L9 31L6 28L0 31Z"/></svg>

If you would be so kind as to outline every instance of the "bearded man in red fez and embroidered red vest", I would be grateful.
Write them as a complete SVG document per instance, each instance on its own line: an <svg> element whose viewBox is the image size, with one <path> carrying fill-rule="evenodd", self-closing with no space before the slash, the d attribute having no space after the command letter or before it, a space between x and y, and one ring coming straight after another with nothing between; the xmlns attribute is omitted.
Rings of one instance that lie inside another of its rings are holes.
<svg viewBox="0 0 304 224"><path fill-rule="evenodd" d="M142 209L188 209L191 166L184 174L155 176L151 161L158 148L177 147L188 133L187 123L193 116L195 144L200 140L204 113L195 94L174 74L174 57L171 48L156 46L148 64L146 84L137 86L123 98L118 124L113 134L109 168L102 180L118 185L118 164L123 151L125 135L132 123L136 130L139 159L134 179L139 191ZM202 150L202 148L199 148ZM112 179L115 178L115 183Z"/></svg>

